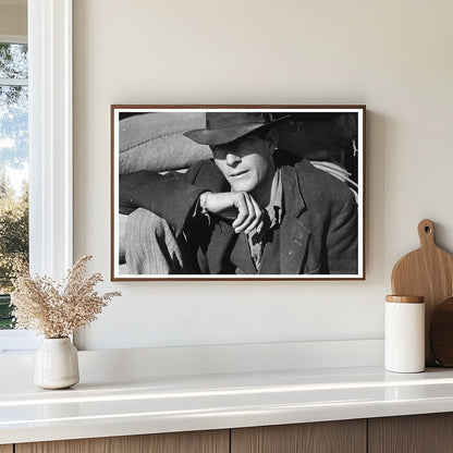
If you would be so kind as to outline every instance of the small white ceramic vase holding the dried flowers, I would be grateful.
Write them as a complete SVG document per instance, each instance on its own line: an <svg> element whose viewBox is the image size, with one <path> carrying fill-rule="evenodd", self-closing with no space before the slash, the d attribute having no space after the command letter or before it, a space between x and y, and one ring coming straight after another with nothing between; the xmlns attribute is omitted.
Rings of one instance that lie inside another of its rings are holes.
<svg viewBox="0 0 453 453"><path fill-rule="evenodd" d="M78 382L77 350L69 338L44 339L36 354L34 382L42 389L66 389Z"/></svg>

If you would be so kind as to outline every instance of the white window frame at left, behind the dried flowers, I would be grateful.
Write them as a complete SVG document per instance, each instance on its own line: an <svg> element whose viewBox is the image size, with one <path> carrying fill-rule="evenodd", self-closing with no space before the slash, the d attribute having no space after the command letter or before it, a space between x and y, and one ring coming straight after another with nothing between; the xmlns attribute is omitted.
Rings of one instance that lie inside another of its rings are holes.
<svg viewBox="0 0 453 453"><path fill-rule="evenodd" d="M29 265L61 280L73 264L72 0L27 0L27 21ZM1 334L9 351L36 347L34 334Z"/></svg>

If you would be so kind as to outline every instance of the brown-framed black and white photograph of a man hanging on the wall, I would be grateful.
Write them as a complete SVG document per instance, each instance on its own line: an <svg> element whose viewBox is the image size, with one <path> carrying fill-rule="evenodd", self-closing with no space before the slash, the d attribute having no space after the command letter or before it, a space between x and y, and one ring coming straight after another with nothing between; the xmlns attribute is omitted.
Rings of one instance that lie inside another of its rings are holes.
<svg viewBox="0 0 453 453"><path fill-rule="evenodd" d="M364 280L365 106L111 106L111 279Z"/></svg>

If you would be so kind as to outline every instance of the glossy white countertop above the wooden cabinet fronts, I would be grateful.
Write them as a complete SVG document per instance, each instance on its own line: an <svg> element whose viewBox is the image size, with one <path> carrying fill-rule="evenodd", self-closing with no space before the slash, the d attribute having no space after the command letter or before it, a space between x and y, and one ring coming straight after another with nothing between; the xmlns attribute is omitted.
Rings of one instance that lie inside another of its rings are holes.
<svg viewBox="0 0 453 453"><path fill-rule="evenodd" d="M0 443L297 424L453 411L453 370L381 367L0 385Z"/></svg>

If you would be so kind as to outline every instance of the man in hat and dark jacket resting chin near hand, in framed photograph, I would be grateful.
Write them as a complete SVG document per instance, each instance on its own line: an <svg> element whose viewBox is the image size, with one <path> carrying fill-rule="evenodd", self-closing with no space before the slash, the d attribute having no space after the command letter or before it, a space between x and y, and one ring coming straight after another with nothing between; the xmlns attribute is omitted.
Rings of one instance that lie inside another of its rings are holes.
<svg viewBox="0 0 453 453"><path fill-rule="evenodd" d="M285 164L270 113L207 112L184 135L212 159L120 179L131 274L356 274L357 205L303 159Z"/></svg>

